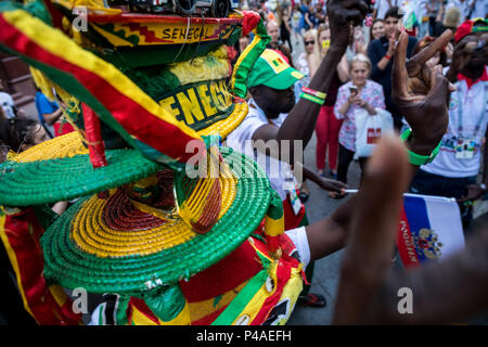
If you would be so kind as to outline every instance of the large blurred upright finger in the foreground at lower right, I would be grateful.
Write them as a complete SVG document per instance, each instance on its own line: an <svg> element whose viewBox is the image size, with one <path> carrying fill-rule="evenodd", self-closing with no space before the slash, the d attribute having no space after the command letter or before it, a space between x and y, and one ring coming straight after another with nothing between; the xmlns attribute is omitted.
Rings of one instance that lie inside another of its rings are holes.
<svg viewBox="0 0 488 347"><path fill-rule="evenodd" d="M334 324L368 323L391 266L408 163L399 139L385 136L364 171L354 204L334 310Z"/></svg>

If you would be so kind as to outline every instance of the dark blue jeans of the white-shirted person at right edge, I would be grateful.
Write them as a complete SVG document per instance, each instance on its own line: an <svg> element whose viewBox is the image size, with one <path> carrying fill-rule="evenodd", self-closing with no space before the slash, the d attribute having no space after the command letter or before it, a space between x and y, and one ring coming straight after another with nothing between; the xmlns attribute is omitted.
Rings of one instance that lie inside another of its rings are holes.
<svg viewBox="0 0 488 347"><path fill-rule="evenodd" d="M459 198L467 194L466 185L474 183L476 183L476 176L451 178L419 169L410 184L410 192ZM473 219L473 206L472 204L459 203L459 208L461 210L463 229L466 230Z"/></svg>

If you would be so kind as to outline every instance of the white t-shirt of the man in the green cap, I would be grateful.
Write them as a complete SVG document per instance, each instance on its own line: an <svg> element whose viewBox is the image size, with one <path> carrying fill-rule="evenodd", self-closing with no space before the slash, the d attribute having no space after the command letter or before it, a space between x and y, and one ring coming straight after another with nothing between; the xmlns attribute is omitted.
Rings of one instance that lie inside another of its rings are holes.
<svg viewBox="0 0 488 347"><path fill-rule="evenodd" d="M287 114L282 113L275 119L268 119L265 112L249 100L249 112L241 125L227 137L227 146L240 153L252 157L265 170L269 178L271 188L280 195L281 200L286 198L286 189L297 187L296 179L292 174L290 165L274 157L267 156L265 153L253 146L253 136L257 129L267 124L273 124L281 127Z"/></svg>

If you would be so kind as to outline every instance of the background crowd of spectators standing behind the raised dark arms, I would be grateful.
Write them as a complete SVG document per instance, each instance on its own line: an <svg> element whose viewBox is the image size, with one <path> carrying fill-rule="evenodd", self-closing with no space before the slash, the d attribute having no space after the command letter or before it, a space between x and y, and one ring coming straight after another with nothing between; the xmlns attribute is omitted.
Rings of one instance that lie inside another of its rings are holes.
<svg viewBox="0 0 488 347"><path fill-rule="evenodd" d="M298 100L301 87L308 86L329 49L330 28L325 2L320 0L299 3L297 1L244 1L243 7L260 13L271 36L271 43L268 47L281 51L287 56L290 65L305 75L295 86L296 100ZM385 110L391 116L394 128L398 132L408 128L403 115L391 99L393 57L400 28L404 27L409 34L407 57L427 47L445 29L450 29L454 33L452 39L428 64L429 66L440 64L447 76L450 76L450 81L464 90L463 97L451 102L450 115L455 118L451 124L458 124L460 119L468 119L463 121L473 123L477 130L464 128L465 133L451 133L449 139L446 138L446 143L440 151L441 156L447 155L447 158L423 165L412 183L411 191L458 198L464 227L467 227L472 216L472 202L483 197L487 192L483 172L480 183L475 184L480 169L479 155L484 153L487 114L484 106L486 95L483 90L486 88L486 72L485 67L474 65L464 68L463 72L459 70L457 60L461 53L458 50L454 54L454 46L461 40L461 35L464 35L459 34L457 38L455 33L465 21L479 18L480 23L486 23L483 22L487 16L486 4L479 0L376 1L373 8L371 26L363 23L355 27L346 53L337 66L334 83L328 91L326 101L317 119L317 174L347 183L349 163L354 158L359 160L361 169L364 167L367 157L360 157L355 153L357 110L367 110L371 115L376 114L375 108ZM462 33L466 25L463 25ZM294 40L290 39L292 36ZM297 60L294 62L291 53L298 47L304 49L296 55ZM466 79L465 76L475 77ZM459 94L454 95L458 98ZM461 111L457 105L461 105ZM476 110L473 110L474 105ZM459 116L460 112L462 115ZM458 127L461 129L463 125L459 124ZM462 143L466 143L465 140L460 142L461 138L473 140L468 141L471 144L467 144L470 147L467 151L473 153L473 156L466 154L470 158L460 159L458 154L455 158L450 158L450 155L455 156L457 151L460 151ZM473 164L467 164L470 160ZM325 169L326 163L329 170ZM459 182L459 189L450 185L446 188L442 183L445 179L449 182ZM431 180L439 182L439 185L434 188ZM330 195L342 196L334 193ZM304 201L308 197L306 182L300 190L300 197Z"/></svg>

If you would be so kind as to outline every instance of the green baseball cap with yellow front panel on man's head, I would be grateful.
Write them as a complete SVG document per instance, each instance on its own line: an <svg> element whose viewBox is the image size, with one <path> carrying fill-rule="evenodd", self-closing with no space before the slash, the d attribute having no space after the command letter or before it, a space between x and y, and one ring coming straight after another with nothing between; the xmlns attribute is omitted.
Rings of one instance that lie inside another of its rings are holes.
<svg viewBox="0 0 488 347"><path fill-rule="evenodd" d="M274 89L287 89L305 75L290 66L279 52L266 49L251 69L247 86L265 85Z"/></svg>

